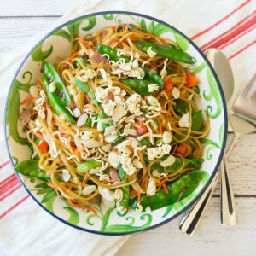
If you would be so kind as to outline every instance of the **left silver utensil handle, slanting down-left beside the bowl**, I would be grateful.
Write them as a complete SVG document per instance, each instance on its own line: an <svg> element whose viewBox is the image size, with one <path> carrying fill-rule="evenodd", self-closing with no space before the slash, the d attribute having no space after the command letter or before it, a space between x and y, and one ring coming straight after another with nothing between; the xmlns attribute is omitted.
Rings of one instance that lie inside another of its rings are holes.
<svg viewBox="0 0 256 256"><path fill-rule="evenodd" d="M190 236L195 234L195 231L198 227L198 224L201 221L201 216L205 209L207 208L207 204L212 197L212 193L218 183L219 171L215 173L215 176L212 179L212 183L208 186L206 191L201 195L201 198L196 201L194 207L190 210L190 212L183 217L179 229Z"/></svg>

